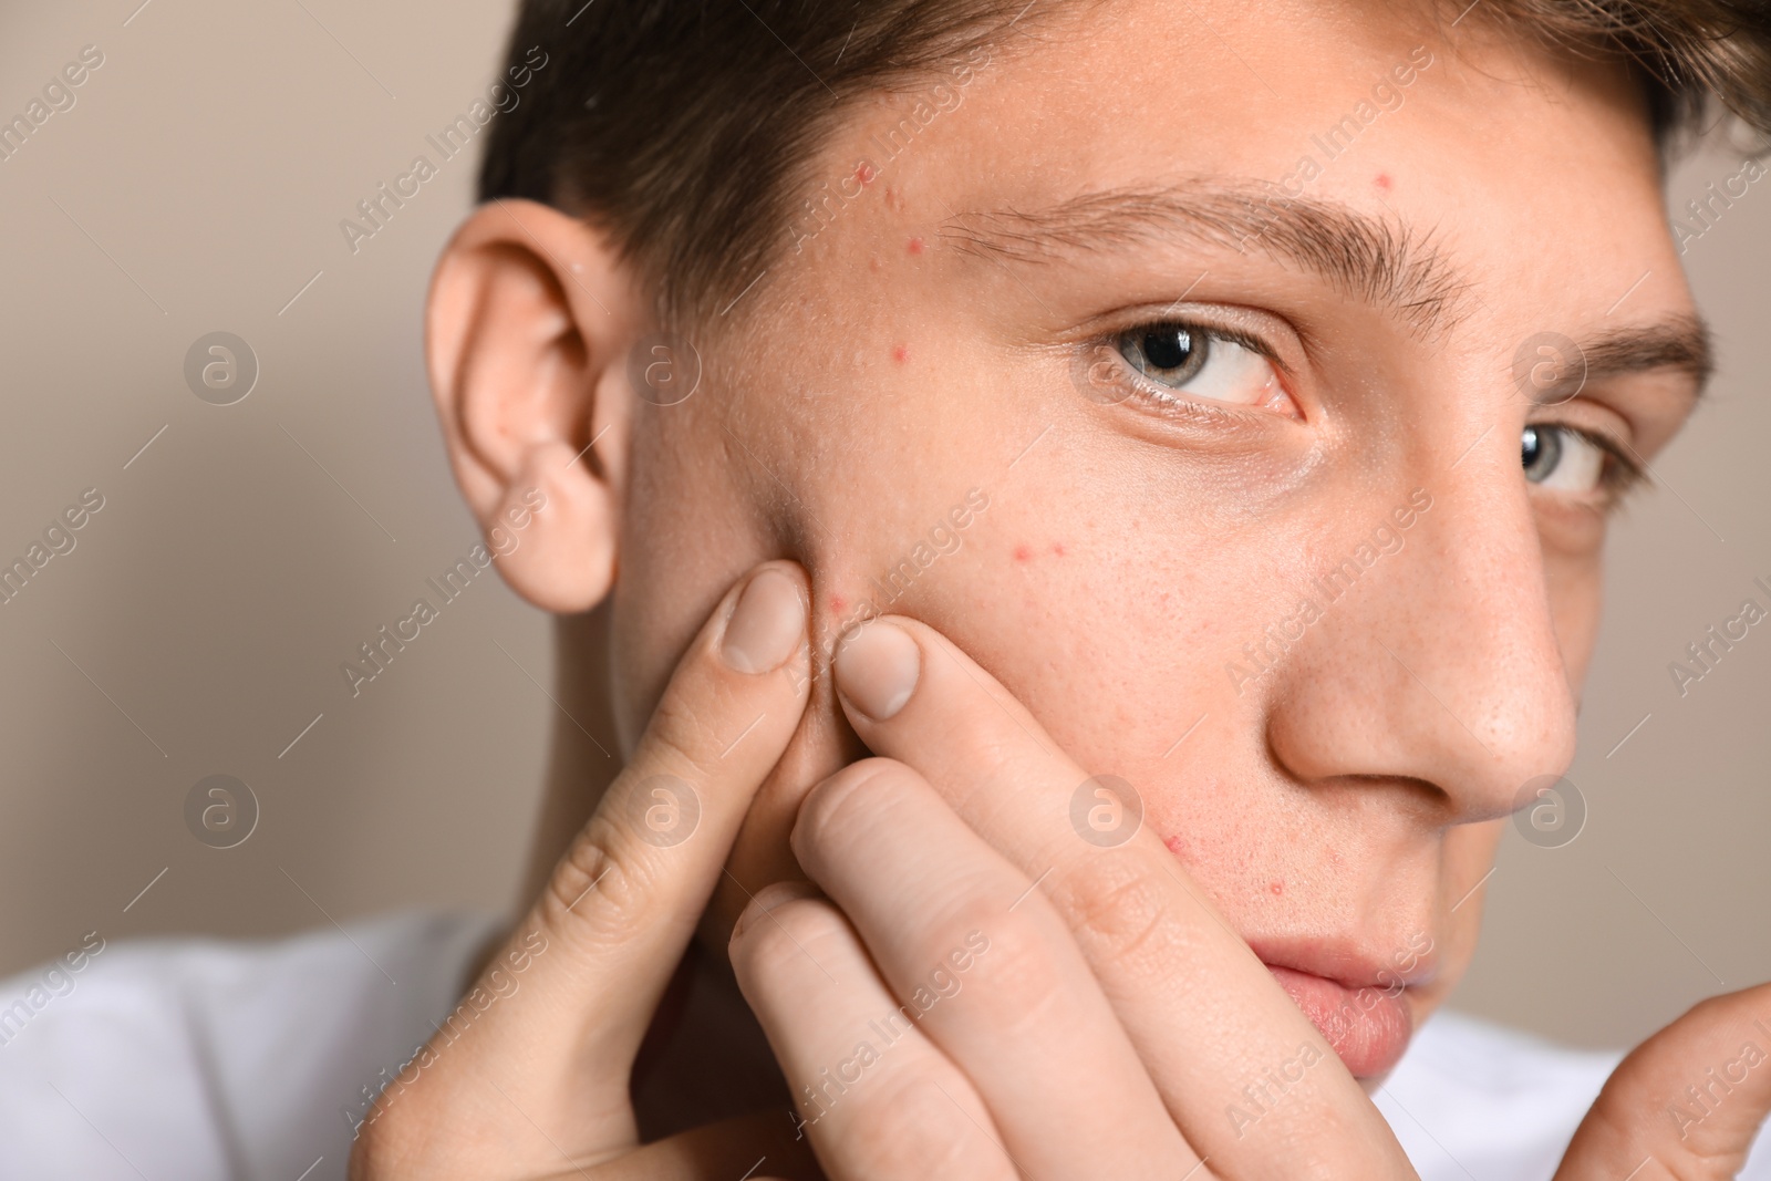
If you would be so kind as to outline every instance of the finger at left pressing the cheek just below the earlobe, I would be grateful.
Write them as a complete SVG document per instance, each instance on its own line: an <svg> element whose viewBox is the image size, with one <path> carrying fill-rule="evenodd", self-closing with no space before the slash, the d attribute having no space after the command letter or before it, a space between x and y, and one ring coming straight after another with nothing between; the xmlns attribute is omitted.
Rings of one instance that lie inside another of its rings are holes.
<svg viewBox="0 0 1771 1181"><path fill-rule="evenodd" d="M806 593L792 563L769 563L728 593L554 869L528 922L554 947L526 981L538 995L522 1020L538 1043L632 1061L751 797L804 710ZM570 1025L556 1020L579 1025L581 1039L560 1038Z"/></svg>

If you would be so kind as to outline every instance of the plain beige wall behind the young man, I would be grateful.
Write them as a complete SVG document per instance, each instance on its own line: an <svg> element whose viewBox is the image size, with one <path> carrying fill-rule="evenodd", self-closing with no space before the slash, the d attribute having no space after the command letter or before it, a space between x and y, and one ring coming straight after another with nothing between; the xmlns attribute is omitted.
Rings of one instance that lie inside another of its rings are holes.
<svg viewBox="0 0 1771 1181"><path fill-rule="evenodd" d="M551 724L547 620L491 577L360 698L338 673L475 542L420 358L475 165L443 165L356 255L338 221L483 92L505 5L138 2L0 14L7 119L83 44L106 58L0 163L0 558L81 489L106 498L0 607L0 974L94 928L507 907ZM1737 161L1693 159L1675 191ZM1521 166L1555 182L1553 161ZM1771 583L1771 181L1688 266L1723 372L1615 533L1571 772L1590 820L1557 850L1509 834L1458 995L1587 1045L1771 977L1771 627L1684 699L1667 671ZM182 379L216 329L262 365L232 407ZM182 822L216 772L262 806L227 852Z"/></svg>

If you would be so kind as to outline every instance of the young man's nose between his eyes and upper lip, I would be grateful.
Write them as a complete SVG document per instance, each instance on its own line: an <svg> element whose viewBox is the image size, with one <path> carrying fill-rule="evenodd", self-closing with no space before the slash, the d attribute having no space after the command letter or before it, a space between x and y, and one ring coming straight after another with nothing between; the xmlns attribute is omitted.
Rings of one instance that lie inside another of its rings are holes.
<svg viewBox="0 0 1771 1181"><path fill-rule="evenodd" d="M1449 823L1491 820L1573 761L1574 689L1518 452L1417 478L1323 538L1323 618L1277 669L1268 742L1302 783L1415 781Z"/></svg>

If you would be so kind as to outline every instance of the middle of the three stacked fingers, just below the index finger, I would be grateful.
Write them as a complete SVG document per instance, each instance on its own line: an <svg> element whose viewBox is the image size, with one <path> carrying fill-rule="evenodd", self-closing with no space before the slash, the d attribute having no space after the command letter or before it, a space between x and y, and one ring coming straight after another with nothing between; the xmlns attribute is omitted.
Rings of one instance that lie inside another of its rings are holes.
<svg viewBox="0 0 1771 1181"><path fill-rule="evenodd" d="M1199 1165L1050 901L917 772L875 758L818 784L793 853L1032 1176L1172 1181Z"/></svg>

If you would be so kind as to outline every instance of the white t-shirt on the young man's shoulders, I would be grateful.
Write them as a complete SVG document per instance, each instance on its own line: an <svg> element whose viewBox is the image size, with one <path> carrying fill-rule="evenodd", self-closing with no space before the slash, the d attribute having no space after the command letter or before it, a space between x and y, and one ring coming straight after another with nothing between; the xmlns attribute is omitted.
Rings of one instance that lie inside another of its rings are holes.
<svg viewBox="0 0 1771 1181"><path fill-rule="evenodd" d="M365 1094L430 1038L496 926L140 940L0 983L0 1179L342 1179ZM1442 1013L1376 1101L1424 1181L1544 1181L1619 1057ZM1741 1176L1771 1181L1767 1137Z"/></svg>

